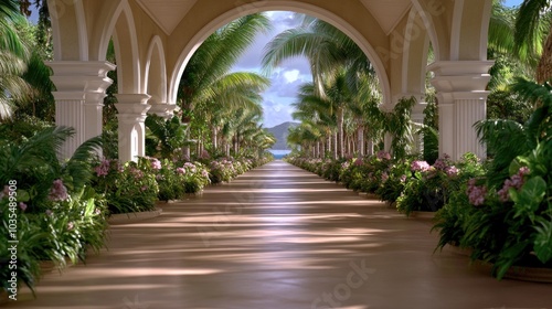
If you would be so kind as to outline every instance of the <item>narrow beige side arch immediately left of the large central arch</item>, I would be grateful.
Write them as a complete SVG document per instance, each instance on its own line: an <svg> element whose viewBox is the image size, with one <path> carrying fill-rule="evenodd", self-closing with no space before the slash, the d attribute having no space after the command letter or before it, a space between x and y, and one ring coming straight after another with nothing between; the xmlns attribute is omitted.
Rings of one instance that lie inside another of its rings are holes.
<svg viewBox="0 0 552 309"><path fill-rule="evenodd" d="M167 65L159 35L153 36L149 43L144 82L145 93L151 96L151 104L167 103Z"/></svg>

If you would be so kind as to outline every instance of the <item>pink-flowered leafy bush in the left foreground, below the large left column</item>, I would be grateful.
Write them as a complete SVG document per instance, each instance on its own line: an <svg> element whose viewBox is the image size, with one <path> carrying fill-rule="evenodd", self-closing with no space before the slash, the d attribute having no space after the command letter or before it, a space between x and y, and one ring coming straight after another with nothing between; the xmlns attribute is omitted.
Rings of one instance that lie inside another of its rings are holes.
<svg viewBox="0 0 552 309"><path fill-rule="evenodd" d="M0 129L3 125L0 125ZM91 162L99 139L79 146L66 161L59 147L73 130L51 127L13 141L0 137L0 280L11 287L8 241L18 243L17 285L33 289L41 260L59 267L84 259L105 241L102 196L89 187ZM4 187L8 185L8 187ZM17 220L15 220L17 217ZM17 226L17 228L14 228ZM14 232L14 230L17 230Z"/></svg>

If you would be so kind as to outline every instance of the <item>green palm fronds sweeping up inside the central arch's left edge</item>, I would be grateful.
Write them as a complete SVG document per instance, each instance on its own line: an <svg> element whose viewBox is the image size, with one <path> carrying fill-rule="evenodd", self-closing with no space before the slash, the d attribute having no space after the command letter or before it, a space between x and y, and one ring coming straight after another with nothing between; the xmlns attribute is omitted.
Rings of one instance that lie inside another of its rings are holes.
<svg viewBox="0 0 552 309"><path fill-rule="evenodd" d="M190 124L195 106L213 102L221 78L230 72L255 35L268 29L269 20L264 14L251 14L219 29L203 42L180 79L178 98L183 110L183 124ZM257 82L262 85L265 81ZM184 152L189 150L184 149Z"/></svg>

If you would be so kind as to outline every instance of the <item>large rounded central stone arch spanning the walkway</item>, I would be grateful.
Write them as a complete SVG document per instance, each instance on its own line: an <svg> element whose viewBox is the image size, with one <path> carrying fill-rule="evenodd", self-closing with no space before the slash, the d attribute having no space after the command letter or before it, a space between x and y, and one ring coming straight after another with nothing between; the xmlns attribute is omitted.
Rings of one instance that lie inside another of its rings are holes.
<svg viewBox="0 0 552 309"><path fill-rule="evenodd" d="M359 47L361 47L361 50L374 66L375 72L380 78L380 85L383 92L383 102L385 103L391 100L391 86L385 64L378 55L375 49L370 44L370 42L368 42L368 40L362 34L360 34L360 32L354 26L352 26L336 13L320 7L299 1L261 1L251 4L244 4L241 7L234 7L234 9L226 11L215 19L212 19L210 23L208 23L199 32L197 32L193 39L188 42L188 44L182 49L182 52L179 54L170 77L169 99L171 99L172 102L177 100L177 87L180 77L184 72L188 61L191 58L192 54L199 47L201 42L203 42L216 29L240 17L263 11L294 11L305 13L325 20L341 30L349 38L351 38L359 45Z"/></svg>

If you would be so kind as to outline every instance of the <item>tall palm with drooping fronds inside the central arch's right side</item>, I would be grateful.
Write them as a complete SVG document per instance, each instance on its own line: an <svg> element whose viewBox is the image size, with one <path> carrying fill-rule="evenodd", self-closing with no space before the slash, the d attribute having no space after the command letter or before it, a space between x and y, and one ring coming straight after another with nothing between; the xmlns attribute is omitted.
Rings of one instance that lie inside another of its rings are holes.
<svg viewBox="0 0 552 309"><path fill-rule="evenodd" d="M336 118L333 156L343 156L344 115L353 100L353 86L358 86L355 76L375 76L362 50L331 24L310 17L304 18L301 26L278 34L265 50L263 65L267 71L288 57L308 58L314 77L314 92L309 95L326 102L327 110Z"/></svg>

